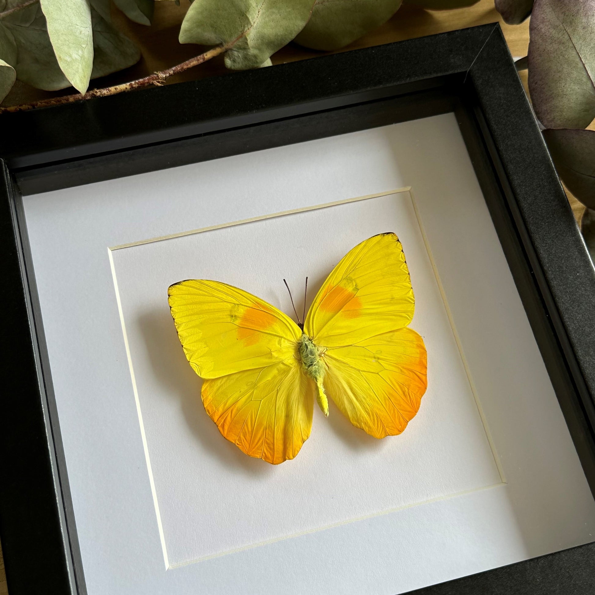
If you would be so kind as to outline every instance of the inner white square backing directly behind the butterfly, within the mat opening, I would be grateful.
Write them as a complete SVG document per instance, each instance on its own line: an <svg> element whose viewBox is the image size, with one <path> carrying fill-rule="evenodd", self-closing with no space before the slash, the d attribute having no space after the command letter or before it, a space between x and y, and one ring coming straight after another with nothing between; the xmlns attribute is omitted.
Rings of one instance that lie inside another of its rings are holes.
<svg viewBox="0 0 595 595"><path fill-rule="evenodd" d="M294 461L243 455L203 410L167 287L223 281L291 315L283 278L301 312L306 275L311 299L343 254L383 231L405 249L411 327L429 353L421 411L400 437L376 440L331 406L328 420L316 411ZM409 192L134 245L112 259L167 566L501 483Z"/></svg>

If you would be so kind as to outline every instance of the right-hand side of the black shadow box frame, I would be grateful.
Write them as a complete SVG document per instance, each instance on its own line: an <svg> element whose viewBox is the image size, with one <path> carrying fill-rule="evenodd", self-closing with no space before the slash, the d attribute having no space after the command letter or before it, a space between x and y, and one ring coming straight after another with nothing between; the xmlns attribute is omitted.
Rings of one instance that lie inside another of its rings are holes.
<svg viewBox="0 0 595 595"><path fill-rule="evenodd" d="M536 328L535 313L527 305L525 311L541 339L560 408L595 496L595 317L589 307L595 296L595 269L528 101L514 106L521 117L510 115L510 98L524 98L525 93L510 68L512 56L500 27L494 33L469 71L469 97L549 325L544 321ZM490 60L482 55L484 50ZM553 200L541 200L540 191ZM514 274L512 267L511 271ZM563 354L564 371L553 362L555 349Z"/></svg>

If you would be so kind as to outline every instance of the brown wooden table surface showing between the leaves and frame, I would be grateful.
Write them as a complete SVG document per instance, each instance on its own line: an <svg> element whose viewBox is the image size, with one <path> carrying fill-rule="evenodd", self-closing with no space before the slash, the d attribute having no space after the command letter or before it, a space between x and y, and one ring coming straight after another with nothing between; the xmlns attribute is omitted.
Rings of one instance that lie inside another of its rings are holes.
<svg viewBox="0 0 595 595"><path fill-rule="evenodd" d="M169 68L200 54L203 51L201 46L191 44L180 45L180 43L177 42L180 23L188 7L188 0L181 0L179 7L177 7L174 2L156 2L154 17L155 24L151 27L132 23L116 8L113 8L112 17L114 18L115 24L117 24L120 30L126 33L137 43L137 45L139 45L142 50L142 58L138 64L121 73L115 73L109 77L94 81L94 85L109 86L111 84L136 79L156 70ZM412 37L433 35L433 33L441 33L455 29L464 29L465 27L494 23L496 21L499 22L502 27L513 57L521 58L527 55L527 46L529 43L528 21L516 26L507 25L502 21L502 18L500 18L500 15L496 10L494 10L493 0L480 0L480 2L472 7L447 11L424 11L419 8L405 5L383 26L378 27L377 30L368 33L364 37L361 37L361 39L353 42L342 51L366 48L372 45L380 45L381 43L411 39ZM283 62L312 58L323 55L324 53L325 52L317 52L301 48L295 43L290 43L286 47L280 49L280 51L272 57L272 61L273 64L281 64ZM227 72L228 71L223 65L223 57L218 57L199 67L192 68L185 73L172 77L168 83L201 79L203 77L215 76ZM521 79L526 87L526 71L521 73ZM12 89L7 98L5 98L5 101L2 102L2 105L17 105L35 99L42 99L61 94L64 94L64 92L48 93L32 89L32 87L17 82L14 89ZM175 107L173 106L172 108L174 109ZM579 220L584 211L583 206L572 196L569 196L569 201L571 201L575 217ZM8 587L4 574L4 562L0 550L0 595L7 595L7 593Z"/></svg>

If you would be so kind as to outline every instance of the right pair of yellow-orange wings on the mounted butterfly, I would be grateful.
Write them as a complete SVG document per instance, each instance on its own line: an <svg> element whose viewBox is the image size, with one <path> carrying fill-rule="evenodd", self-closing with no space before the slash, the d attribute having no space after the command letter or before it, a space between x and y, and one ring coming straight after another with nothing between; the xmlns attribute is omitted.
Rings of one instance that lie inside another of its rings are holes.
<svg viewBox="0 0 595 595"><path fill-rule="evenodd" d="M427 387L424 342L402 246L380 234L350 250L312 302L304 332L325 348L324 389L371 436L400 434Z"/></svg>

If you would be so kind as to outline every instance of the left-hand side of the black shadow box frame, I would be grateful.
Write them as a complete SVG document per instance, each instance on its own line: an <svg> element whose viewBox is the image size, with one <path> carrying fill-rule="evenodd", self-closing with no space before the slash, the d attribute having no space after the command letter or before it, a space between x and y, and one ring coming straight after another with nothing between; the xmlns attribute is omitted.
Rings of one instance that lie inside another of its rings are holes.
<svg viewBox="0 0 595 595"><path fill-rule="evenodd" d="M36 292L27 275L27 240L18 224L10 171L2 160L0 167L0 274L4 279L0 299L10 312L3 319L4 336L13 337L2 350L4 365L12 374L3 378L0 416L0 538L7 583L11 595L84 595L76 530L65 522L74 516L57 414L47 398L48 380L39 375L38 342L43 335L32 327ZM60 469L57 456L62 459Z"/></svg>

